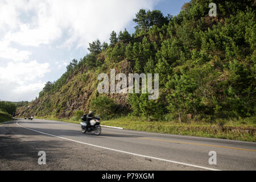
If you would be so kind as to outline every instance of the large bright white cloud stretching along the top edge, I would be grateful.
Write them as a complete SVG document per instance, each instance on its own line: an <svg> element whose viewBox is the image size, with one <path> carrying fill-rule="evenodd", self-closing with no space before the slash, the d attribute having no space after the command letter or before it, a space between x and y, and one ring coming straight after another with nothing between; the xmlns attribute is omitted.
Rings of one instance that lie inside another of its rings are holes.
<svg viewBox="0 0 256 182"><path fill-rule="evenodd" d="M112 30L119 31L129 23L139 9L151 9L158 0L61 0L26 1L15 3L1 1L0 6L8 11L0 11L0 25L9 26L4 40L23 46L50 44L68 32L65 46L76 43L77 47L87 47L96 38L108 41ZM23 6L26 5L26 9ZM30 22L23 23L24 14ZM17 15L19 15L17 17Z"/></svg>

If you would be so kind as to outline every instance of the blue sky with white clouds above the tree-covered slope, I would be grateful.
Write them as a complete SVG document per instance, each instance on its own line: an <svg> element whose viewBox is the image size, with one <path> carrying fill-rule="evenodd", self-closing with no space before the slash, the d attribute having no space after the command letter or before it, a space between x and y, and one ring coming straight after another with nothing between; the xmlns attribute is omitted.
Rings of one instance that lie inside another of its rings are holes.
<svg viewBox="0 0 256 182"><path fill-rule="evenodd" d="M31 101L88 43L132 34L140 9L177 15L188 0L0 0L0 100Z"/></svg>

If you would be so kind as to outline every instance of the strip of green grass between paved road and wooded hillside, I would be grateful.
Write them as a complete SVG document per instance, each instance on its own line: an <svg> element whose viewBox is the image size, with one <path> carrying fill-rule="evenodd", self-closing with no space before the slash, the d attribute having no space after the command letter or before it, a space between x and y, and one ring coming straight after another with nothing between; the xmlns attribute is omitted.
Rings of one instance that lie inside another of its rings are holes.
<svg viewBox="0 0 256 182"><path fill-rule="evenodd" d="M40 119L57 120L63 122L80 123L68 118L37 117ZM223 124L221 126L220 124ZM142 117L121 117L108 121L101 121L101 125L123 127L127 130L148 131L196 137L222 138L256 142L256 117L245 119L217 119L214 123L177 121L147 121Z"/></svg>

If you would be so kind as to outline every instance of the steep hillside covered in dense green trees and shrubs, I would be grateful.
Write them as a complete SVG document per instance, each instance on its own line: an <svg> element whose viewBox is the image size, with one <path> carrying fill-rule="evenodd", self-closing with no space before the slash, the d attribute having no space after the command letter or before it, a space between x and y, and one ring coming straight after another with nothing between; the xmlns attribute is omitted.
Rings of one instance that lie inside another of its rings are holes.
<svg viewBox="0 0 256 182"><path fill-rule="evenodd" d="M109 45L98 39L89 43L90 53L80 61L73 59L59 80L47 82L27 112L61 117L95 109L108 118L129 113L179 122L253 117L255 2L216 0L217 17L208 15L210 2L185 3L177 16L140 10L134 34L113 31ZM129 105L118 109L115 99L97 93L98 73L119 67L123 60L135 73L159 73L158 100L129 94ZM86 93L88 99L81 101L86 106L67 108L80 93Z"/></svg>

